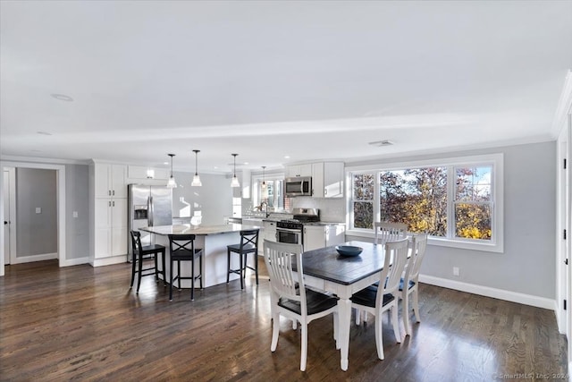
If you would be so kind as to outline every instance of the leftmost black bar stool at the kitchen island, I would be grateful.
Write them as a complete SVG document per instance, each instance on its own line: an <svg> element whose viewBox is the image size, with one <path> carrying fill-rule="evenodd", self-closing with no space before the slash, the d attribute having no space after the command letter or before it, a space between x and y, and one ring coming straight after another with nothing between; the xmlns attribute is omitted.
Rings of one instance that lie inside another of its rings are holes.
<svg viewBox="0 0 572 382"><path fill-rule="evenodd" d="M139 280L137 282L137 293L139 293L139 286L141 285L141 276L151 276L155 275L155 281L159 281L159 275L163 275L163 282L166 286L167 277L164 273L164 251L163 245L151 244L151 245L141 245L141 233L139 231L131 231L131 248L133 249L133 259L131 260L131 284L130 289L133 287L133 281L135 281L135 274L139 275ZM162 269L157 267L157 256L161 255L161 265ZM147 260L154 260L155 267L143 268L143 262ZM139 264L139 267L138 267Z"/></svg>

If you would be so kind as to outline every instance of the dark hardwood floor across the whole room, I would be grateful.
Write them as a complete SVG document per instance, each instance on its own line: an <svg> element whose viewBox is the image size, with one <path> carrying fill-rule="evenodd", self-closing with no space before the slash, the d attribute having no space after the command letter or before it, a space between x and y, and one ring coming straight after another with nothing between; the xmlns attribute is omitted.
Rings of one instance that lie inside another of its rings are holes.
<svg viewBox="0 0 572 382"><path fill-rule="evenodd" d="M384 361L375 352L372 318L370 325L352 325L346 372L332 318L314 321L301 372L299 329L286 320L270 352L267 277L259 286L248 279L244 291L238 281L210 287L192 302L189 290L170 302L153 277L143 278L139 295L129 282L128 264L6 267L0 379L488 381L568 373L566 339L551 310L436 286L421 285L423 321L412 336L397 344L385 325Z"/></svg>

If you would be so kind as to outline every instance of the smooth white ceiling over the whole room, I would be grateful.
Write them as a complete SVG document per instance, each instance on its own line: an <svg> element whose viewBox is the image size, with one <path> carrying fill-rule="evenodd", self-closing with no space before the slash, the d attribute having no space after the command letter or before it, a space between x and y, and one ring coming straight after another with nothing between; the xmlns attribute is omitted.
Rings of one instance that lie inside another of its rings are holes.
<svg viewBox="0 0 572 382"><path fill-rule="evenodd" d="M192 171L200 149L228 172L494 147L555 139L572 1L2 1L0 64L3 157Z"/></svg>

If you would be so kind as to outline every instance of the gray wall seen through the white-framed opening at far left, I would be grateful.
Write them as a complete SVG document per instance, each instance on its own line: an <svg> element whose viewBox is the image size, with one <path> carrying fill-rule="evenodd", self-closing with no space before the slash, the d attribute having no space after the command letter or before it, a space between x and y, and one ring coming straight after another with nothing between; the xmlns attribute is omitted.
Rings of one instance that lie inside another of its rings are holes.
<svg viewBox="0 0 572 382"><path fill-rule="evenodd" d="M16 257L57 253L56 180L55 170L16 169Z"/></svg>

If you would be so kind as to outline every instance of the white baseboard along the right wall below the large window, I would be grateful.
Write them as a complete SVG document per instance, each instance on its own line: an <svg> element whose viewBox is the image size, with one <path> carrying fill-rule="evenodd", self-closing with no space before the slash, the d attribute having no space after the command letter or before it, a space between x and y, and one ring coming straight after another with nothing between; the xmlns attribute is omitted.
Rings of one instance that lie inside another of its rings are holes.
<svg viewBox="0 0 572 382"><path fill-rule="evenodd" d="M419 281L421 283L442 286L443 288L455 289L461 292L474 293L486 297L492 297L493 299L512 301L537 308L556 311L556 301L544 297L495 289L490 286L462 283L460 281L434 276L419 275Z"/></svg>

